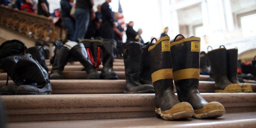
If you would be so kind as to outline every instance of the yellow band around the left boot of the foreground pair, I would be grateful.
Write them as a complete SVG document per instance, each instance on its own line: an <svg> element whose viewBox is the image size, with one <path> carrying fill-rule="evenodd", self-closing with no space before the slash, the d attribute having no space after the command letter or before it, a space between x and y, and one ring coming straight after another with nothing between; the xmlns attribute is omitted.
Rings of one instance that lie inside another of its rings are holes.
<svg viewBox="0 0 256 128"><path fill-rule="evenodd" d="M152 82L160 79L172 79L172 68L161 69L151 74Z"/></svg>

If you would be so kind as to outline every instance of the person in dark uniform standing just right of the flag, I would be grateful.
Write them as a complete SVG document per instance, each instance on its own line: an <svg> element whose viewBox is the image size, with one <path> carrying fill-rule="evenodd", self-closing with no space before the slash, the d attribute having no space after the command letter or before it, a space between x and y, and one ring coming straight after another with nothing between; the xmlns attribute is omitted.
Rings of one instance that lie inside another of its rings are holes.
<svg viewBox="0 0 256 128"><path fill-rule="evenodd" d="M139 41L139 34L132 28L133 25L134 25L134 22L130 21L129 24L126 26L126 36L127 36L126 43Z"/></svg>

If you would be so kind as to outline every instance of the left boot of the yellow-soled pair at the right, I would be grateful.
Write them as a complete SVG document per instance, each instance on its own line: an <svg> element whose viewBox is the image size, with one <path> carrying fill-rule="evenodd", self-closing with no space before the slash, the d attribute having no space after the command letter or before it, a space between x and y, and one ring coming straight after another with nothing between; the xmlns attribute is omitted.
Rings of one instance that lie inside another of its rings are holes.
<svg viewBox="0 0 256 128"><path fill-rule="evenodd" d="M239 84L233 84L227 78L227 49L218 48L209 51L211 46L208 46L208 57L211 66L211 72L215 81L215 93L239 93L243 92ZM236 63L236 62L235 62ZM233 63L234 64L234 63Z"/></svg>

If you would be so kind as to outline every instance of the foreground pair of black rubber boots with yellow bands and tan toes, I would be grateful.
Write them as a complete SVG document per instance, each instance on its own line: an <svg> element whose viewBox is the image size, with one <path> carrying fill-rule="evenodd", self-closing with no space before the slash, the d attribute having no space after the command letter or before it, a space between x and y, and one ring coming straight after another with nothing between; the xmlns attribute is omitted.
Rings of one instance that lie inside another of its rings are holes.
<svg viewBox="0 0 256 128"><path fill-rule="evenodd" d="M157 40L153 38L153 40ZM148 49L158 118L216 118L225 114L219 102L206 102L198 91L200 38L164 35ZM177 95L174 94L174 84Z"/></svg>

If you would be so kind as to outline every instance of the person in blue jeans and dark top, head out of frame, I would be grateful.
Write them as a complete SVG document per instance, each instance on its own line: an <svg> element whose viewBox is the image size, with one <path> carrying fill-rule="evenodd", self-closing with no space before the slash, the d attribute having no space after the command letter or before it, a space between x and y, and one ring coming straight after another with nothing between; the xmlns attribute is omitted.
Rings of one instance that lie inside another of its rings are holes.
<svg viewBox="0 0 256 128"><path fill-rule="evenodd" d="M73 41L82 40L88 30L90 18L95 18L91 0L76 0L75 8L75 33Z"/></svg>

